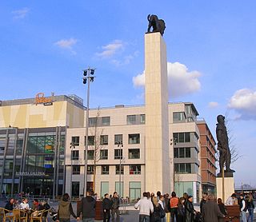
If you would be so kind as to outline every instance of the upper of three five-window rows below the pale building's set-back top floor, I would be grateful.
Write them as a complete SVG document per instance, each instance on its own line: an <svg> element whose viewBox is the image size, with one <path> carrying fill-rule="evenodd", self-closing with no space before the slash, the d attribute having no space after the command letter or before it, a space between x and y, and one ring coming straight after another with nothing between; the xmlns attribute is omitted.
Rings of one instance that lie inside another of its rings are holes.
<svg viewBox="0 0 256 222"><path fill-rule="evenodd" d="M114 135L114 145L118 145L122 143L122 134L115 134ZM128 144L139 144L140 143L140 134L128 134ZM71 145L78 146L80 144L80 137L71 137ZM86 144L86 137L85 137L85 144ZM101 135L99 137L99 141L94 136L88 136L88 145L108 145L109 144L109 136L108 135Z"/></svg>

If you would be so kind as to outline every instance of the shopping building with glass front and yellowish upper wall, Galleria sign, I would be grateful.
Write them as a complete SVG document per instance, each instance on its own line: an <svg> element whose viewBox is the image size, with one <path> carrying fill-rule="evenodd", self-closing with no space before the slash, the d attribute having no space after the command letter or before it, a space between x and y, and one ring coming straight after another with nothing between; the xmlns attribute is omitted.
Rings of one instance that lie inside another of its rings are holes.
<svg viewBox="0 0 256 222"><path fill-rule="evenodd" d="M62 195L66 128L83 120L82 101L74 95L1 101L1 192Z"/></svg>

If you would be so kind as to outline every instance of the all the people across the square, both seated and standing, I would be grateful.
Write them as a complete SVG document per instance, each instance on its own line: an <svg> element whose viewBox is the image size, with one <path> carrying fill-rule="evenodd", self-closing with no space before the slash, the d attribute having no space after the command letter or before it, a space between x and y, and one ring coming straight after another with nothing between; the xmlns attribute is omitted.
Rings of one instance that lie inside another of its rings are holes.
<svg viewBox="0 0 256 222"><path fill-rule="evenodd" d="M70 196L65 193L62 200L58 203L56 219L58 222L70 222L70 216L83 222L92 222L95 218L96 196L92 190L87 190L86 196L78 204L77 214L74 213ZM253 222L254 220L254 196L252 193L244 196L235 193L228 197L226 203L221 198L216 199L212 194L203 193L200 201L200 211L194 209L193 196L186 192L178 197L175 192L156 195L150 192L143 192L142 199L134 204L134 208L139 209L139 222L222 222L227 217L226 206L238 205L240 209L240 221ZM120 221L120 198L117 192L113 196L106 193L102 200L103 222ZM10 198L5 206L6 210L22 209L26 211L41 211L50 209L50 205L45 201L33 200L30 207L27 198L22 198L22 202ZM246 218L246 212L248 216ZM45 216L46 217L46 216ZM230 218L229 218L230 219Z"/></svg>

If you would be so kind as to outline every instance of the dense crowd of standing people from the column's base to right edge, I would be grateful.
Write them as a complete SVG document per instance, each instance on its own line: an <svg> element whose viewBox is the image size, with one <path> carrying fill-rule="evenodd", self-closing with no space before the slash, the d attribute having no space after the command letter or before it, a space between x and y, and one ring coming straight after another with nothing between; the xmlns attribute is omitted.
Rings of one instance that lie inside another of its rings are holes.
<svg viewBox="0 0 256 222"><path fill-rule="evenodd" d="M196 211L193 205L193 196L189 196L186 192L183 196L176 196L175 192L161 195L144 192L141 200L134 205L134 208L139 208L139 222L222 222L227 216L226 205L237 204L240 209L238 220L242 222L253 222L254 220L254 200L250 193L246 196L240 194L237 198L236 194L232 194L226 204L222 203L222 199L216 201L214 195L203 193L200 201L200 211ZM249 215L246 218L246 211Z"/></svg>

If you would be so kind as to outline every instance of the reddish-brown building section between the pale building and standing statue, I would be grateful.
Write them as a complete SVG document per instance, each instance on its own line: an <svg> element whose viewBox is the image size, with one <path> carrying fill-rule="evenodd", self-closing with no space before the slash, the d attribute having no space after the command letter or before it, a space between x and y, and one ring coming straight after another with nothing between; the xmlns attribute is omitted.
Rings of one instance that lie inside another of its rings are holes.
<svg viewBox="0 0 256 222"><path fill-rule="evenodd" d="M216 192L216 142L205 120L197 121L201 143L202 192Z"/></svg>

